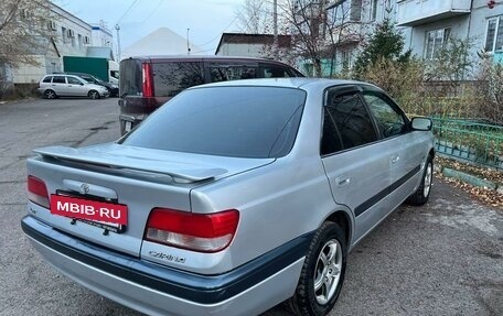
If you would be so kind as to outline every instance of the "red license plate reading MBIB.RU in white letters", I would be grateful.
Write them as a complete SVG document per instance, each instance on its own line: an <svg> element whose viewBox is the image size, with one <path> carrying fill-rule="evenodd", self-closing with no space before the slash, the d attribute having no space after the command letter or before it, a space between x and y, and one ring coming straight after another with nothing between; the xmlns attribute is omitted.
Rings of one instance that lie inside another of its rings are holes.
<svg viewBox="0 0 503 316"><path fill-rule="evenodd" d="M128 207L124 204L51 195L51 214L90 221L118 229L128 225ZM114 229L115 230L115 229Z"/></svg>

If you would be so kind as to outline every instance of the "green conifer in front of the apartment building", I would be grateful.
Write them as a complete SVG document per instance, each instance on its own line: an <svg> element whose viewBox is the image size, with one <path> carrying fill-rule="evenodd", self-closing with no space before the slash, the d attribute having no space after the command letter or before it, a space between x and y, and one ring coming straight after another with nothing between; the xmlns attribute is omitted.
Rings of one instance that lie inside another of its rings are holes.
<svg viewBox="0 0 503 316"><path fill-rule="evenodd" d="M354 65L355 75L358 78L363 77L367 67L383 59L398 62L400 64L409 62L411 51L408 50L402 53L404 46L404 37L400 32L395 29L395 25L389 19L385 19L376 25L374 33L356 58Z"/></svg>

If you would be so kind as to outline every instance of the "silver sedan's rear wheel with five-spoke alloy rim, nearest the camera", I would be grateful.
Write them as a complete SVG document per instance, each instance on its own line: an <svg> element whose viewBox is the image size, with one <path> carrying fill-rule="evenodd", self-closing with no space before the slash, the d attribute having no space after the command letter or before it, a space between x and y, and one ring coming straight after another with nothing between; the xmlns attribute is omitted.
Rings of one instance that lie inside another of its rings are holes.
<svg viewBox="0 0 503 316"><path fill-rule="evenodd" d="M309 246L296 293L287 302L296 315L327 315L335 305L346 268L344 231L334 222L324 222Z"/></svg>

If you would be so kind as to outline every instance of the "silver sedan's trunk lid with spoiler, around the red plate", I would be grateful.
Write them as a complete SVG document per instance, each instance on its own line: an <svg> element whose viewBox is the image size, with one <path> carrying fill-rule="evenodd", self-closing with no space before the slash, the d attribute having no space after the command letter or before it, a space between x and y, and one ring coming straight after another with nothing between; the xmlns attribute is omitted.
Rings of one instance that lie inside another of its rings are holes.
<svg viewBox="0 0 503 316"><path fill-rule="evenodd" d="M81 213L88 205L117 209L120 205L127 208L127 224L75 219L77 215L71 213L68 217L54 215L33 203L29 204L31 215L68 235L135 257L139 255L145 226L153 208L191 211L192 188L274 161L204 156L116 143L82 149L51 146L34 152L39 156L28 161L29 174L45 183L52 203L61 196L69 197L71 201L85 205Z"/></svg>

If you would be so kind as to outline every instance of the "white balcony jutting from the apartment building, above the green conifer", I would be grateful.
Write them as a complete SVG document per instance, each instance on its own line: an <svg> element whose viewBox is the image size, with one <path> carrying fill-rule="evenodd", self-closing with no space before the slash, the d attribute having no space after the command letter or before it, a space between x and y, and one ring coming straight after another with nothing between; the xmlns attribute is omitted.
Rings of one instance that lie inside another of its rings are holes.
<svg viewBox="0 0 503 316"><path fill-rule="evenodd" d="M398 25L417 26L469 14L471 0L398 0Z"/></svg>

